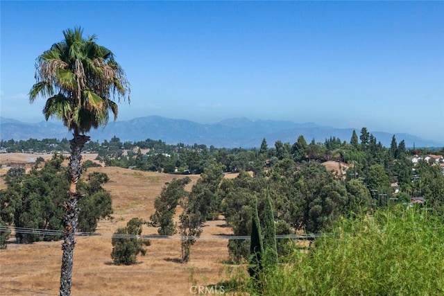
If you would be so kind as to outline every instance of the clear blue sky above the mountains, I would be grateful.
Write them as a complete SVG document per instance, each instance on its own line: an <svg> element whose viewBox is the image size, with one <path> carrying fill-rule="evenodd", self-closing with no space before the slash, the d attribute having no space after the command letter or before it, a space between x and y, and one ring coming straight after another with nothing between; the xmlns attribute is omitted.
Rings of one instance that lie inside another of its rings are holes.
<svg viewBox="0 0 444 296"><path fill-rule="evenodd" d="M444 1L1 1L1 116L82 26L126 70L119 119L247 117L444 141ZM149 128L149 127L147 127ZM348 141L349 139L343 139Z"/></svg>

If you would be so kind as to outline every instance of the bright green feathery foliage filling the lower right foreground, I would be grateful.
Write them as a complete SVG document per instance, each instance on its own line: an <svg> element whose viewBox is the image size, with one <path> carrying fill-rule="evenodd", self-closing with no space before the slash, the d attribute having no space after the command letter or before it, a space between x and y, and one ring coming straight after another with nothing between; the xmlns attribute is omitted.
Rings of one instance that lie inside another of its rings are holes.
<svg viewBox="0 0 444 296"><path fill-rule="evenodd" d="M262 295L443 295L442 220L420 211L342 219L309 252L260 275ZM243 291L252 295L253 288Z"/></svg>

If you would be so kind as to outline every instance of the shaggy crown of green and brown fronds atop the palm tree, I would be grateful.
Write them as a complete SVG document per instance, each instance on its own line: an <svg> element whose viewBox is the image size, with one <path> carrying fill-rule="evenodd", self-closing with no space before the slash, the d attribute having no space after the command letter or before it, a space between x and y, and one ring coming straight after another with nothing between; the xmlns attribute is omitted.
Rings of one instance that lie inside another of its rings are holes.
<svg viewBox="0 0 444 296"><path fill-rule="evenodd" d="M46 119L55 116L74 133L87 132L108 123L110 112L117 119L114 98L120 101L128 94L129 103L130 84L112 51L96 44L95 35L84 38L80 27L63 35L65 40L37 58L29 100L51 96L44 107Z"/></svg>

